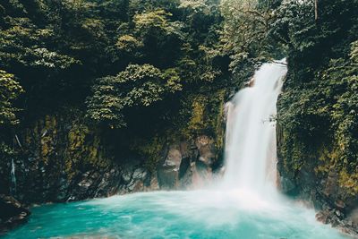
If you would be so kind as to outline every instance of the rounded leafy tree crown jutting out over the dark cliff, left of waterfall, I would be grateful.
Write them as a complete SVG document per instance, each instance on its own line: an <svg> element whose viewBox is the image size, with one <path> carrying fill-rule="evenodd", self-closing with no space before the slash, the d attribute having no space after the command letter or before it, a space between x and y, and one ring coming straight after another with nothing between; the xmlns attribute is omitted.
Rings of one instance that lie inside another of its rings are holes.
<svg viewBox="0 0 358 239"><path fill-rule="evenodd" d="M150 64L130 64L116 76L97 80L87 100L87 115L96 122L122 127L125 109L149 107L178 90L182 86L175 70L162 72Z"/></svg>

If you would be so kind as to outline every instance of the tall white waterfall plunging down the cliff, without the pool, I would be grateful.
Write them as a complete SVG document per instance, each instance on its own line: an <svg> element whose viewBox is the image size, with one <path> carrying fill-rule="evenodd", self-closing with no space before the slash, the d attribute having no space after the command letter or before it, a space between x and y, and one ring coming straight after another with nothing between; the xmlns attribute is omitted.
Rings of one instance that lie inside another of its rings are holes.
<svg viewBox="0 0 358 239"><path fill-rule="evenodd" d="M230 189L266 194L276 187L277 97L286 75L286 60L263 64L253 85L226 104L224 184Z"/></svg>

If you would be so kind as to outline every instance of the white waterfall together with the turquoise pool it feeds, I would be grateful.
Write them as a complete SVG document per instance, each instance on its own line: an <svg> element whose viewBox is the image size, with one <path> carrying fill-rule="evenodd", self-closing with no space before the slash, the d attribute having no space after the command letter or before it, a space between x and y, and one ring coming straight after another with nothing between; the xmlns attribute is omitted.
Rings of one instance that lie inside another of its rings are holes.
<svg viewBox="0 0 358 239"><path fill-rule="evenodd" d="M225 172L211 188L38 206L5 238L345 238L277 191L272 118L284 62L263 64L228 105Z"/></svg>

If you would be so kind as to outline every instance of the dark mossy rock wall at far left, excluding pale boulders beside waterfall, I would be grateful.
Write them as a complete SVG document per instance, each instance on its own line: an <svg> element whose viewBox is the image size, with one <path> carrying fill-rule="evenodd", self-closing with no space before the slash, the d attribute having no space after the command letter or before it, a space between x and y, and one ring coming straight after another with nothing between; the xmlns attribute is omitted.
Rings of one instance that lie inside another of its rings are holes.
<svg viewBox="0 0 358 239"><path fill-rule="evenodd" d="M0 163L0 177L2 193L12 193L21 201L77 201L150 186L150 175L141 162L117 163L99 133L80 119L47 115L21 131L18 139L16 185L10 178L10 158Z"/></svg>

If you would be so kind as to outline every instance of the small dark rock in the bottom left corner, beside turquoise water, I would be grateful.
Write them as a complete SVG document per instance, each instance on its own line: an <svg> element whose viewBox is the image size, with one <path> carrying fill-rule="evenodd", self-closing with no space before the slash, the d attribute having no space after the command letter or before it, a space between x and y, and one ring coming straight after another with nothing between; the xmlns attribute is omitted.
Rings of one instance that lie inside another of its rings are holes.
<svg viewBox="0 0 358 239"><path fill-rule="evenodd" d="M26 222L30 211L11 196L0 194L0 235Z"/></svg>

